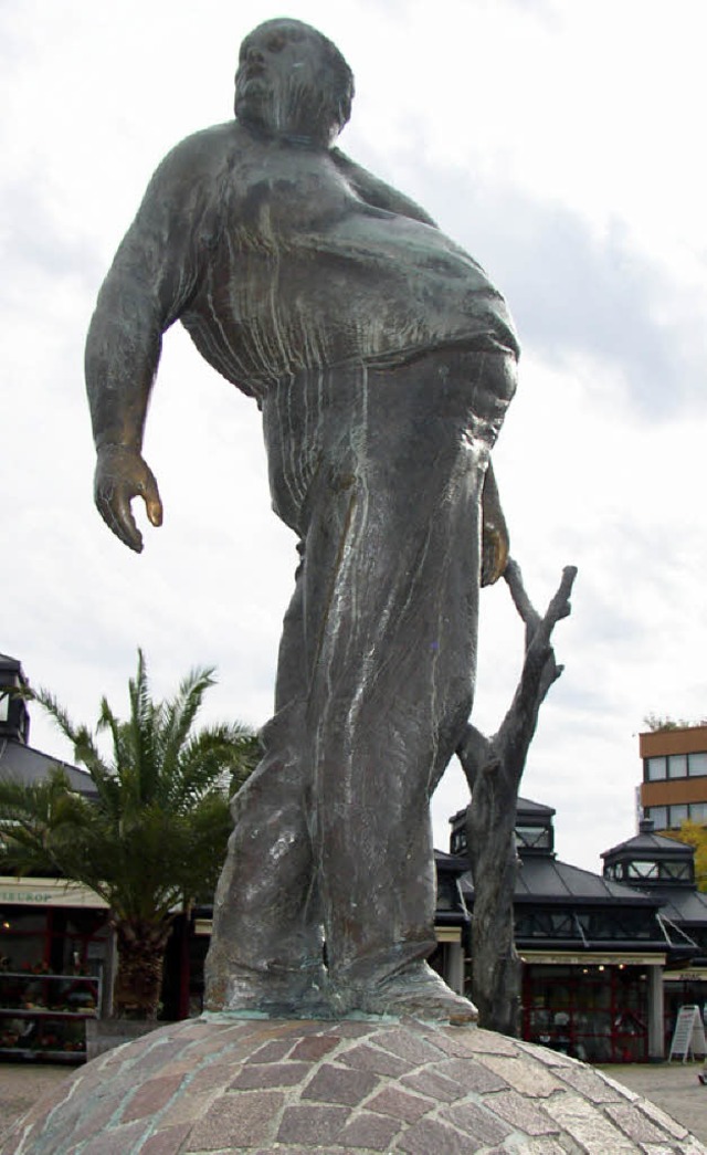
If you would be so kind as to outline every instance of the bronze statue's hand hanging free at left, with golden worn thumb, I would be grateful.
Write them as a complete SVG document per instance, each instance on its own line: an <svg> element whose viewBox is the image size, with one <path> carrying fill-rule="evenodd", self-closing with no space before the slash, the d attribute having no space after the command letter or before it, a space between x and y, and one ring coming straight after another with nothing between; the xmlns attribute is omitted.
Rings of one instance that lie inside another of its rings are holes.
<svg viewBox="0 0 707 1155"><path fill-rule="evenodd" d="M133 517L132 499L142 498L152 526L162 526L157 482L136 449L107 445L98 450L94 497L109 529L135 553L142 551L142 534Z"/></svg>

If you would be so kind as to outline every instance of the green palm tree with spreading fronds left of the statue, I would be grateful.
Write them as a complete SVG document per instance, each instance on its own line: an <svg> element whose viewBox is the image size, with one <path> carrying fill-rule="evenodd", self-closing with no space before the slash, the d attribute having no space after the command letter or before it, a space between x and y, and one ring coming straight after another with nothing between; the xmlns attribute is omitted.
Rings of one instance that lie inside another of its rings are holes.
<svg viewBox="0 0 707 1155"><path fill-rule="evenodd" d="M110 760L51 693L30 691L73 743L95 795L73 789L59 767L35 784L0 780L0 847L15 872L58 872L109 904L114 1013L155 1019L174 915L213 894L231 829L228 796L255 766L259 743L239 723L194 731L213 669L193 670L173 699L154 702L137 654L128 721L101 702L97 732L110 735Z"/></svg>

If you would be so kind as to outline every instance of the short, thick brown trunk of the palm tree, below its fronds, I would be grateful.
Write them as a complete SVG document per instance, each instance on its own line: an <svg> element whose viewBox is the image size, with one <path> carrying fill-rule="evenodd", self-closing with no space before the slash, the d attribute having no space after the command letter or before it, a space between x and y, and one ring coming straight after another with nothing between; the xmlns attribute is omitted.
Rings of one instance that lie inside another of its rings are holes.
<svg viewBox="0 0 707 1155"><path fill-rule="evenodd" d="M118 974L113 989L113 1014L125 1019L154 1020L157 1018L164 952L172 922L126 918L116 919L114 927Z"/></svg>

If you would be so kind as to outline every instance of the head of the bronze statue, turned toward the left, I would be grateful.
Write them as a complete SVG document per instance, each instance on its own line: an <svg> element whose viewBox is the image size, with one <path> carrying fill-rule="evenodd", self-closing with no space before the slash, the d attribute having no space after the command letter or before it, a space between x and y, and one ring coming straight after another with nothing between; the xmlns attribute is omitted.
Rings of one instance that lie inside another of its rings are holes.
<svg viewBox="0 0 707 1155"><path fill-rule="evenodd" d="M235 111L250 128L328 147L351 114L352 97L347 61L310 24L269 20L240 46Z"/></svg>

